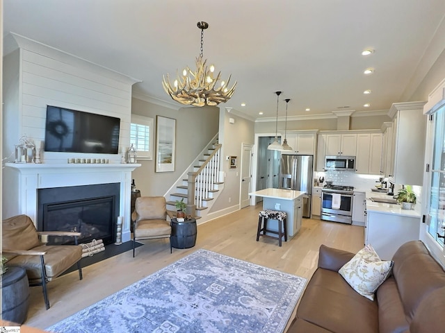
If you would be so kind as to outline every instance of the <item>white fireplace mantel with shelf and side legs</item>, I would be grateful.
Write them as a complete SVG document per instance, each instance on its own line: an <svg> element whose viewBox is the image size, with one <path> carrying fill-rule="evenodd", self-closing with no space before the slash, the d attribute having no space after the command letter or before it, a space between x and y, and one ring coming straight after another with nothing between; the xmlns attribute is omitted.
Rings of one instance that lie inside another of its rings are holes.
<svg viewBox="0 0 445 333"><path fill-rule="evenodd" d="M6 163L3 170L3 219L26 214L37 223L38 189L120 182L122 241L129 241L131 209L131 171L140 164L34 164Z"/></svg>

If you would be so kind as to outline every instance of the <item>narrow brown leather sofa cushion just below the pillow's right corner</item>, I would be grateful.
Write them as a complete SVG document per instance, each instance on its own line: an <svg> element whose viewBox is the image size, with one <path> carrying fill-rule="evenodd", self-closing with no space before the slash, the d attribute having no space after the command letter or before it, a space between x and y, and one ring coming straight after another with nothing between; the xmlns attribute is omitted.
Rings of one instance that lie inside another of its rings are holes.
<svg viewBox="0 0 445 333"><path fill-rule="evenodd" d="M382 283L375 293L378 301L380 333L406 332L410 324L405 318L401 296L394 276Z"/></svg>

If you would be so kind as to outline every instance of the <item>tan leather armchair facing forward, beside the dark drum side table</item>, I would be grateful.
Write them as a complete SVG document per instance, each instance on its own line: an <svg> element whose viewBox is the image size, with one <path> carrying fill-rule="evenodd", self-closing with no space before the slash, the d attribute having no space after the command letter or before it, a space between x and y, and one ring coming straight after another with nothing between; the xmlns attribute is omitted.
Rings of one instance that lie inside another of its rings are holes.
<svg viewBox="0 0 445 333"><path fill-rule="evenodd" d="M133 221L133 257L136 241L143 239L168 238L170 240L170 253L172 253L172 227L167 204L163 196L141 196L136 198Z"/></svg>

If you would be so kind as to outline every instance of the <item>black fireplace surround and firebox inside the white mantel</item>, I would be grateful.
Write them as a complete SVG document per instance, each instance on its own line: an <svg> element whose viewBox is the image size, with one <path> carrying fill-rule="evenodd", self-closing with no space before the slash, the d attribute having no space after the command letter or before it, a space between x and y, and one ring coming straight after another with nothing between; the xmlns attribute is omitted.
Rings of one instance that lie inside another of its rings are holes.
<svg viewBox="0 0 445 333"><path fill-rule="evenodd" d="M115 242L120 183L38 189L38 231L81 232L79 244ZM74 244L72 237L50 237L49 244Z"/></svg>

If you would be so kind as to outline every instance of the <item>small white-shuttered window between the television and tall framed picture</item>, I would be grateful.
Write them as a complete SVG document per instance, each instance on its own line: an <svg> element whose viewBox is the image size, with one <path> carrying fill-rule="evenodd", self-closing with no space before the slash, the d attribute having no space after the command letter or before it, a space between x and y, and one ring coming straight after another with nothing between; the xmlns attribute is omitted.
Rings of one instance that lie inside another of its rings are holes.
<svg viewBox="0 0 445 333"><path fill-rule="evenodd" d="M130 144L138 160L153 160L153 118L131 114Z"/></svg>

